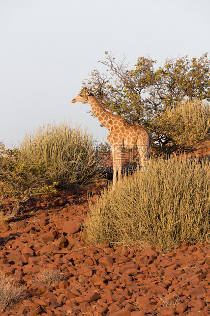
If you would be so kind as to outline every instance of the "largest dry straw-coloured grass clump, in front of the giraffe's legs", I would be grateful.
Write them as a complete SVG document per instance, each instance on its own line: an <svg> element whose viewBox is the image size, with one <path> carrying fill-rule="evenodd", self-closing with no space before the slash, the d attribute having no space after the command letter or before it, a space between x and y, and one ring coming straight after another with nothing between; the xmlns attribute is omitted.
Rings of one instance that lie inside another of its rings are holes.
<svg viewBox="0 0 210 316"><path fill-rule="evenodd" d="M209 163L161 157L90 206L87 232L94 243L167 251L184 241L204 242L209 209Z"/></svg>

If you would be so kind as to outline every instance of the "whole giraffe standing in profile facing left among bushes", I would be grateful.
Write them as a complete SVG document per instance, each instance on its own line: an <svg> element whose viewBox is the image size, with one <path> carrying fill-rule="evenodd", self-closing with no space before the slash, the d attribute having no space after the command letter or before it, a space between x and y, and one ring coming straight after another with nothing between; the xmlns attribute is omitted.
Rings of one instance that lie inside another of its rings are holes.
<svg viewBox="0 0 210 316"><path fill-rule="evenodd" d="M116 184L116 173L118 173L118 183L121 180L122 172L122 149L138 148L140 164L146 166L150 145L150 135L144 126L133 125L123 117L115 115L102 106L96 96L86 88L72 103L87 101L91 106L98 120L109 130L107 140L111 147L113 159L113 186Z"/></svg>

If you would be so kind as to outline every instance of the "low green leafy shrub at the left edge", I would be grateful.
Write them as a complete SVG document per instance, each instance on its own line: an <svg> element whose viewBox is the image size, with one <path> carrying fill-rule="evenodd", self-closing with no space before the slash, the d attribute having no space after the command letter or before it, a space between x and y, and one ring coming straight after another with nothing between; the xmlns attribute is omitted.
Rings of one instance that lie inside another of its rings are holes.
<svg viewBox="0 0 210 316"><path fill-rule="evenodd" d="M55 185L46 184L43 164L23 159L20 150L6 149L0 143L0 194L18 202L28 195L56 192Z"/></svg>

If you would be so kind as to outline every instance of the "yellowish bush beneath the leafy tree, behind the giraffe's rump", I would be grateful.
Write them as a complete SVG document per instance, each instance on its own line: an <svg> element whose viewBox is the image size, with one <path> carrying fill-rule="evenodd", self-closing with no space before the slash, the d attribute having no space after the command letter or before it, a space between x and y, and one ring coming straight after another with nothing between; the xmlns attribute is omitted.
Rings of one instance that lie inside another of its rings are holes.
<svg viewBox="0 0 210 316"><path fill-rule="evenodd" d="M154 135L157 143L153 145L157 152L191 151L209 139L209 102L199 99L177 102L157 116L150 127L152 133L157 133Z"/></svg>

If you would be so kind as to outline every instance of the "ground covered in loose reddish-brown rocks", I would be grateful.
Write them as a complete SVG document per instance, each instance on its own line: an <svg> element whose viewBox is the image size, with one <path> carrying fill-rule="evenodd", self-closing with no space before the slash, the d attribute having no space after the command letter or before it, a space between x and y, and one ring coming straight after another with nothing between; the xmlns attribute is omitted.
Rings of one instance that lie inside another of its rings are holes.
<svg viewBox="0 0 210 316"><path fill-rule="evenodd" d="M0 225L0 277L25 290L22 302L0 314L210 315L210 244L183 243L170 253L89 244L82 224L89 196L94 203L102 186L31 200ZM63 279L47 285L43 271L61 271ZM1 283L0 291L1 302Z"/></svg>

